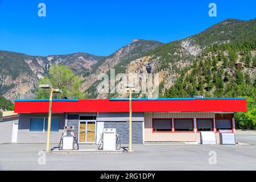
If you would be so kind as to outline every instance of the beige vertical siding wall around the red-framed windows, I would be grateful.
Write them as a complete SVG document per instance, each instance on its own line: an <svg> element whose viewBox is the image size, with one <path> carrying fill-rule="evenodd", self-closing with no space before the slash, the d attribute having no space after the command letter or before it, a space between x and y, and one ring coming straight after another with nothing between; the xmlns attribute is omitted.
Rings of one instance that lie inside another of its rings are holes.
<svg viewBox="0 0 256 182"><path fill-rule="evenodd" d="M200 133L152 133L152 118L214 118L214 113L144 113L145 142L199 142Z"/></svg>

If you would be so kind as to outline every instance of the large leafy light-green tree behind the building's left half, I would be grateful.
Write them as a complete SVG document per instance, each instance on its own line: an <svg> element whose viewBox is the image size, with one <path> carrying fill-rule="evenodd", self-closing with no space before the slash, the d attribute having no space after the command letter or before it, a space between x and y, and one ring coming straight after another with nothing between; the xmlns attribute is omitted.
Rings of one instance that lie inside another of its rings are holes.
<svg viewBox="0 0 256 182"><path fill-rule="evenodd" d="M40 84L52 84L53 88L62 90L62 93L54 94L53 98L85 98L85 94L80 92L81 78L64 65L51 65L48 76L38 81L36 98L49 98L49 90L39 88Z"/></svg>

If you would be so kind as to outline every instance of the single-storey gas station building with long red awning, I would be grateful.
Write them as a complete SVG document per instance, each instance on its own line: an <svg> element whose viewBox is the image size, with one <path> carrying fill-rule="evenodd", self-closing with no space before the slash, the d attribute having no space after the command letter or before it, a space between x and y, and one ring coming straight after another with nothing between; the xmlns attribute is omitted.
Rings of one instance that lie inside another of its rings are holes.
<svg viewBox="0 0 256 182"><path fill-rule="evenodd" d="M17 143L46 143L49 100L16 100ZM133 143L197 142L201 131L236 133L234 112L245 112L245 98L156 98L132 100ZM1 125L1 122L0 122ZM11 126L11 125L10 125ZM129 143L129 100L55 99L52 102L51 143L64 126L74 126L78 142L98 143L104 128L114 128L121 143Z"/></svg>

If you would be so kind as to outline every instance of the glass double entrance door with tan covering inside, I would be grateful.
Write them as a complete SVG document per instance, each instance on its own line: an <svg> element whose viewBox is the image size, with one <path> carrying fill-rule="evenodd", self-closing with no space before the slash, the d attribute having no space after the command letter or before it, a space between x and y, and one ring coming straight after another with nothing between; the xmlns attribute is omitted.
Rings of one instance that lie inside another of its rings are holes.
<svg viewBox="0 0 256 182"><path fill-rule="evenodd" d="M95 142L95 121L79 121L79 142Z"/></svg>

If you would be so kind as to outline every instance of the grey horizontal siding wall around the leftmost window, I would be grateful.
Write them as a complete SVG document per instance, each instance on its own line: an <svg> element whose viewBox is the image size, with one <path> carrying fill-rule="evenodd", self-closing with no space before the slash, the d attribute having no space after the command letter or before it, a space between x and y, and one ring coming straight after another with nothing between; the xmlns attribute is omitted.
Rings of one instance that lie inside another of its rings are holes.
<svg viewBox="0 0 256 182"><path fill-rule="evenodd" d="M35 114L20 114L19 129L18 129L18 143L46 143L47 132L33 133L29 132L30 118L33 117L48 117L46 113ZM50 137L51 143L59 143L60 137L64 132L65 114L52 114L52 117L60 118L59 132L52 132Z"/></svg>

